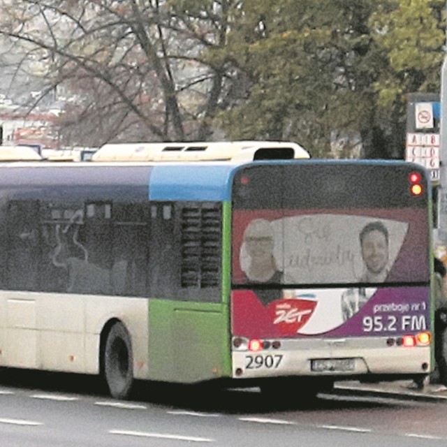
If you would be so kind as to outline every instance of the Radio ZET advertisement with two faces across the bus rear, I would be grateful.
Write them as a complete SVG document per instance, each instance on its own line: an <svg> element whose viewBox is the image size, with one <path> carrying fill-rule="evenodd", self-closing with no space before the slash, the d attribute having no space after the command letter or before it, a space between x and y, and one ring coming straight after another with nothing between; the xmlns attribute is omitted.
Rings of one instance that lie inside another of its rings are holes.
<svg viewBox="0 0 447 447"><path fill-rule="evenodd" d="M418 213L237 213L233 328L249 336L260 326L272 336L427 329L430 289L405 287L430 278Z"/></svg>

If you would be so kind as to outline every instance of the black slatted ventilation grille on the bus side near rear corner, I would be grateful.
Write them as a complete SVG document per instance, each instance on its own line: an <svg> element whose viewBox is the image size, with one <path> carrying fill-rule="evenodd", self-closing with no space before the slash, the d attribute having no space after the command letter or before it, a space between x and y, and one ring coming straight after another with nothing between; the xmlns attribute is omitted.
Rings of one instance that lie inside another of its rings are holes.
<svg viewBox="0 0 447 447"><path fill-rule="evenodd" d="M219 286L221 264L220 207L184 207L182 210L183 288Z"/></svg>

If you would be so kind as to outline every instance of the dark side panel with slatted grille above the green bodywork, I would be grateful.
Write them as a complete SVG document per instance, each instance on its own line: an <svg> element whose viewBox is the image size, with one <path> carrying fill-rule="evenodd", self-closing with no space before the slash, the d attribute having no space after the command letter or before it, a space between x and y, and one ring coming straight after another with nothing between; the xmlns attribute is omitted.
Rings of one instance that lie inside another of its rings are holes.
<svg viewBox="0 0 447 447"><path fill-rule="evenodd" d="M221 205L152 203L150 296L219 302Z"/></svg>

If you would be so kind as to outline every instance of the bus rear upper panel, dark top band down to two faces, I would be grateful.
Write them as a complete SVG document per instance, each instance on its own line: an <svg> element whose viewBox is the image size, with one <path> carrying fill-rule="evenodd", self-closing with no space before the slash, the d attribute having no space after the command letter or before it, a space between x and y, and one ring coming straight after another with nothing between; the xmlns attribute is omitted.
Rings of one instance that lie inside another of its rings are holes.
<svg viewBox="0 0 447 447"><path fill-rule="evenodd" d="M307 162L240 173L233 284L429 281L428 186L419 176L413 196L410 174L408 165Z"/></svg>

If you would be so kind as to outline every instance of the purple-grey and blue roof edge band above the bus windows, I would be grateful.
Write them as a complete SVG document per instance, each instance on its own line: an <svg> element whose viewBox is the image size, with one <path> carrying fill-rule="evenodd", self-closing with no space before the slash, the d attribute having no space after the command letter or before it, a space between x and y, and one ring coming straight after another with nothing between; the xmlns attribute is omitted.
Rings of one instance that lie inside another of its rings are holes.
<svg viewBox="0 0 447 447"><path fill-rule="evenodd" d="M17 198L54 200L231 200L231 183L240 168L264 163L286 164L400 164L405 161L278 160L198 161L187 163L0 163L0 189ZM414 165L415 169L420 166Z"/></svg>

